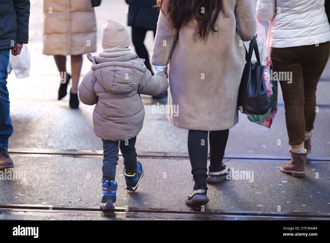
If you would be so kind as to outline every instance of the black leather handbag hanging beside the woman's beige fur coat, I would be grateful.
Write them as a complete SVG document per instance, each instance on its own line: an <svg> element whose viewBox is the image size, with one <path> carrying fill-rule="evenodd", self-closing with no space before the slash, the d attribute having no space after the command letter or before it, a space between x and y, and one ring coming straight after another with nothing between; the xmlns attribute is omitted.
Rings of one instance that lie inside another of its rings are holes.
<svg viewBox="0 0 330 243"><path fill-rule="evenodd" d="M257 61L252 64L252 53L255 53ZM268 111L268 94L264 79L264 69L260 63L259 50L255 36L250 41L246 51L245 68L243 71L241 85L238 90L238 110L248 115L263 115Z"/></svg>

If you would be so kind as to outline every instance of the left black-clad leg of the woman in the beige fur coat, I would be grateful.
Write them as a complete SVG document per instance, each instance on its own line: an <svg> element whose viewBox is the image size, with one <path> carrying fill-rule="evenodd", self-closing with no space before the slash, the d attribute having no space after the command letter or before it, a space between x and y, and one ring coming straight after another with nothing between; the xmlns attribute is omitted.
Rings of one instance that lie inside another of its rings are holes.
<svg viewBox="0 0 330 243"><path fill-rule="evenodd" d="M206 183L208 131L189 130L188 153L195 184Z"/></svg>

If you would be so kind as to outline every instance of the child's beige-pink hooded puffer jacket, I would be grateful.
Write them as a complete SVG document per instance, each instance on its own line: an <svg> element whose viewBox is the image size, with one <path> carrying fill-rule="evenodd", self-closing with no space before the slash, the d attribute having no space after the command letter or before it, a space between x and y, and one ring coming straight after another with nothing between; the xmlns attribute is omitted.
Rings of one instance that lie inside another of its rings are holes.
<svg viewBox="0 0 330 243"><path fill-rule="evenodd" d="M97 64L92 64L82 79L79 98L85 104L96 104L93 112L96 136L111 141L134 138L142 129L145 115L139 94L165 92L166 74L152 76L144 59L135 54L116 58L87 56Z"/></svg>

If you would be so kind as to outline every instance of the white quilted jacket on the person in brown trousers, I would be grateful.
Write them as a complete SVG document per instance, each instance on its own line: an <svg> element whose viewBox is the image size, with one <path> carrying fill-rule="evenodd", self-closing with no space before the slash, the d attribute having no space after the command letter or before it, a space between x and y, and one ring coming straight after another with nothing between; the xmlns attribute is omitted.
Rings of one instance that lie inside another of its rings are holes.
<svg viewBox="0 0 330 243"><path fill-rule="evenodd" d="M330 1L330 0L326 0ZM260 20L273 20L270 47L306 46L330 41L325 0L258 0Z"/></svg>

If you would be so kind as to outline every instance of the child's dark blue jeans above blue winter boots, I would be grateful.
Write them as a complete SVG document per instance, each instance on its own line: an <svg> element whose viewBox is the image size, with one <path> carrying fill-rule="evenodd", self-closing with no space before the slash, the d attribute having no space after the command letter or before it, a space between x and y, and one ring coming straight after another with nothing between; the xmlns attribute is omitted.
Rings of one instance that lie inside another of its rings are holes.
<svg viewBox="0 0 330 243"><path fill-rule="evenodd" d="M103 178L102 182L115 181L116 165L118 164L118 143L119 148L124 158L125 170L128 173L134 173L137 170L135 142L136 137L125 141L109 141L103 140Z"/></svg>

